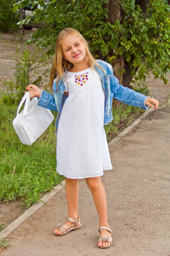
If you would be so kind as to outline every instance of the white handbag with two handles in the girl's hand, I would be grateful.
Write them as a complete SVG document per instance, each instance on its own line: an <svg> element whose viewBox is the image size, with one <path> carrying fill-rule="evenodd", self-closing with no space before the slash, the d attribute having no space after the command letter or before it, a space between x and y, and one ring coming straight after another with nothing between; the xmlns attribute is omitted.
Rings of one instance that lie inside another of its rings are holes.
<svg viewBox="0 0 170 256"><path fill-rule="evenodd" d="M23 111L21 106L25 102ZM49 109L37 105L38 99L30 100L29 91L23 96L17 109L17 116L12 124L23 144L31 145L48 128L54 120L54 116Z"/></svg>

